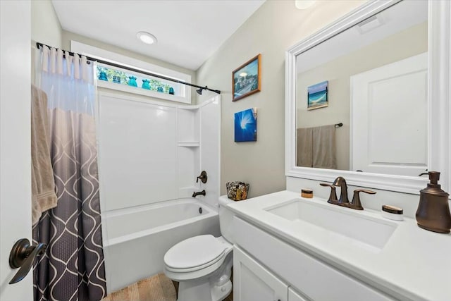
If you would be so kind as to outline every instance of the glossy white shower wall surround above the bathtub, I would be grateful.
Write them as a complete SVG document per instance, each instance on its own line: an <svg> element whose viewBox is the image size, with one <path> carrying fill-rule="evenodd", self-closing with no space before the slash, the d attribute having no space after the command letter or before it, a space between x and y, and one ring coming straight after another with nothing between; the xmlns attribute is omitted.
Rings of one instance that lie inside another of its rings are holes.
<svg viewBox="0 0 451 301"><path fill-rule="evenodd" d="M197 197L219 197L220 96L200 106L99 93L102 211ZM130 118L132 116L132 118ZM132 146L132 147L130 147ZM206 171L208 182L197 181Z"/></svg>

